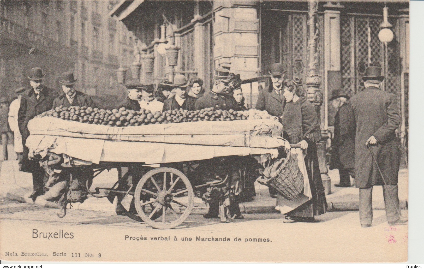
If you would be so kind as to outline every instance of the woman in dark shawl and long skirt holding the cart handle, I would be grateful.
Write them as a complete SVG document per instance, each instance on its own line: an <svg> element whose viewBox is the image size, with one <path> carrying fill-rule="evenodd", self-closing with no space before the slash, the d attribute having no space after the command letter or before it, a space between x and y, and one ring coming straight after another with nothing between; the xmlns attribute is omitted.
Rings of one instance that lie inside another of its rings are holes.
<svg viewBox="0 0 424 269"><path fill-rule="evenodd" d="M315 107L306 99L298 78L287 84L284 97L286 105L282 115L283 137L290 144L299 144L306 151L304 160L312 193L312 199L286 213L284 222L313 221L314 216L324 214L327 210L316 146L321 140L318 116ZM283 206L283 202L283 197L278 194L277 205Z"/></svg>

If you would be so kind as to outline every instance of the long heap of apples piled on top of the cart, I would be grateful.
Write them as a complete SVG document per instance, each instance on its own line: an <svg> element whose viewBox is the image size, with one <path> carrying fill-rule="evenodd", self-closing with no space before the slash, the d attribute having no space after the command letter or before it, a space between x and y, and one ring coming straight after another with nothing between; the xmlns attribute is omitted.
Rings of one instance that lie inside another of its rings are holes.
<svg viewBox="0 0 424 269"><path fill-rule="evenodd" d="M164 112L152 112L142 108L140 111L128 110L125 107L118 109L98 109L86 106L58 106L55 109L43 112L36 117L54 117L62 120L72 120L82 123L106 125L106 126L139 126L161 123L180 123L190 121L218 121L218 120L247 120L274 118L266 111L250 109L234 111L233 109L222 110L214 108L198 109L189 111L185 109L167 110Z"/></svg>

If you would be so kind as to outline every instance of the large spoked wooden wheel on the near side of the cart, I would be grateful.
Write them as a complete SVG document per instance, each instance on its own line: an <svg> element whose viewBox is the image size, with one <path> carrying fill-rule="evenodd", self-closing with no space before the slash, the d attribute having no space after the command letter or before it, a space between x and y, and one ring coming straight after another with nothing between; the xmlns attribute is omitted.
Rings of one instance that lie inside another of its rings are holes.
<svg viewBox="0 0 424 269"><path fill-rule="evenodd" d="M184 185L184 188L179 186L176 190L178 182L182 183L180 185ZM151 191L152 188L150 190L146 188L150 183L155 186L153 191ZM179 197L182 193L187 193L187 196ZM146 195L150 195L151 198L144 202L143 200L147 199L142 197ZM185 199L187 201L183 201ZM181 171L167 167L155 168L148 171L138 182L134 193L134 204L145 223L157 229L171 229L177 227L190 215L194 204L194 192L190 181ZM146 205L155 205L149 215L143 210ZM158 210L162 210L162 217L155 220L154 216Z"/></svg>

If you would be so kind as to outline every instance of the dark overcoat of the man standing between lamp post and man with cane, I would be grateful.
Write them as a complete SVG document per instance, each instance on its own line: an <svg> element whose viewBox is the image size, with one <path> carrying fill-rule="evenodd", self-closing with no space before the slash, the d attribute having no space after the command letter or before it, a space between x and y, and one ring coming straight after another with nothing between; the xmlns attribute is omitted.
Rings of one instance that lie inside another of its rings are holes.
<svg viewBox="0 0 424 269"><path fill-rule="evenodd" d="M330 168L355 167L355 116L349 103L344 103L334 118L334 138Z"/></svg>

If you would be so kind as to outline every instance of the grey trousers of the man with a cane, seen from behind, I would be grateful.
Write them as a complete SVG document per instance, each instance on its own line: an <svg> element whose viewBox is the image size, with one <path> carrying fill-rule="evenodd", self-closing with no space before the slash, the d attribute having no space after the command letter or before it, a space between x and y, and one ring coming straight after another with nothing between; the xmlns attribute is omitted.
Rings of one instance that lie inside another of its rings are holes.
<svg viewBox="0 0 424 269"><path fill-rule="evenodd" d="M359 188L359 220L360 224L372 223L372 188ZM387 221L400 219L399 196L397 185L383 185L384 205Z"/></svg>

